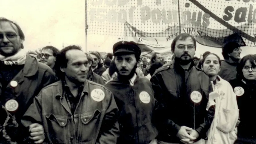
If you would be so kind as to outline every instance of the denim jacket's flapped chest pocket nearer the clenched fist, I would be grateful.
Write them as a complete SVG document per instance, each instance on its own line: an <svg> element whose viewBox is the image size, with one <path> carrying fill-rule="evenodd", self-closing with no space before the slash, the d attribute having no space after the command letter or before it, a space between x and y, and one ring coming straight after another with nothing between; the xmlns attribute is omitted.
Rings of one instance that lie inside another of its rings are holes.
<svg viewBox="0 0 256 144"><path fill-rule="evenodd" d="M67 117L46 115L49 135L53 143L67 143Z"/></svg>

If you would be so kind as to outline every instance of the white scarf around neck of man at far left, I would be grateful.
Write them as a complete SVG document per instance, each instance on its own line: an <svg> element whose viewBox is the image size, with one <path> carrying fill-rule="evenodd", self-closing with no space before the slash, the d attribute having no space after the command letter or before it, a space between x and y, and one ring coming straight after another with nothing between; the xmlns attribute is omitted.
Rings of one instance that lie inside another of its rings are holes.
<svg viewBox="0 0 256 144"><path fill-rule="evenodd" d="M22 65L26 62L26 51L20 49L15 55L5 57L0 55L0 61L5 65Z"/></svg>

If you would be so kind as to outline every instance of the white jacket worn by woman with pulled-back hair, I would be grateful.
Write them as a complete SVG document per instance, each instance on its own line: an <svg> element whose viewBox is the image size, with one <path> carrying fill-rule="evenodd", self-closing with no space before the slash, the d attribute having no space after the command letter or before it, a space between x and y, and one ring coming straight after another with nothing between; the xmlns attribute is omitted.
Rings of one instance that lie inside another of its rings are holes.
<svg viewBox="0 0 256 144"><path fill-rule="evenodd" d="M239 117L239 109L236 101L236 94L232 86L218 76L215 85L212 87L217 92L215 99L215 115L208 130L206 144L234 144L237 139L236 123Z"/></svg>

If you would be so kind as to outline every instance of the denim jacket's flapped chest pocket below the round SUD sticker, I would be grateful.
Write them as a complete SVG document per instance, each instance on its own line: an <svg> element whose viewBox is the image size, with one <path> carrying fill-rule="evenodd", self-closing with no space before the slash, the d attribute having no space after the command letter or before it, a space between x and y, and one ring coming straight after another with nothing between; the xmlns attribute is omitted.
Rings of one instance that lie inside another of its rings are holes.
<svg viewBox="0 0 256 144"><path fill-rule="evenodd" d="M98 128L100 128L101 111L94 110L91 114L81 116L81 142L97 139Z"/></svg>

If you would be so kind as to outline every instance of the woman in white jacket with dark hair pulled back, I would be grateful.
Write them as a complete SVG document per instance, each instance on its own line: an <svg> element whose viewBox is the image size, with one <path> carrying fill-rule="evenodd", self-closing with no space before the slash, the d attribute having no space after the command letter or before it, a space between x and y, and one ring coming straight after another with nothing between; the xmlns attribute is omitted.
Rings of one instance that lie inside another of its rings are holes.
<svg viewBox="0 0 256 144"><path fill-rule="evenodd" d="M215 114L206 144L234 144L237 139L239 109L232 86L218 76L220 58L211 53L202 60L202 69L210 77L213 92L209 94L207 108L215 105Z"/></svg>

